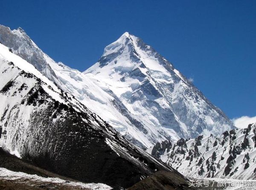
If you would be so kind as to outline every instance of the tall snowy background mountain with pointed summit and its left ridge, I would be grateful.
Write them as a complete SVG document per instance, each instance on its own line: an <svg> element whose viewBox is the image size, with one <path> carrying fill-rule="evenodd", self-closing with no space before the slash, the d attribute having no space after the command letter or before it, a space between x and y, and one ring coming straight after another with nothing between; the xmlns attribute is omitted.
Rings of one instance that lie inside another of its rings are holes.
<svg viewBox="0 0 256 190"><path fill-rule="evenodd" d="M127 32L84 73L52 60L21 28L0 26L0 42L143 149L234 128L170 62Z"/></svg>

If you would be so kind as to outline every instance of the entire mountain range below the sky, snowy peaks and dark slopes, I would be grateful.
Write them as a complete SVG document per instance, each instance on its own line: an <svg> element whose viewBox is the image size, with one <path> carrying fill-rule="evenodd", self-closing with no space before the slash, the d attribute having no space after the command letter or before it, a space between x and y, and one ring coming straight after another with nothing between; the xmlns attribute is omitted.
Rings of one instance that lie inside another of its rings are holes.
<svg viewBox="0 0 256 190"><path fill-rule="evenodd" d="M0 152L34 167L116 189L188 189L184 176L254 179L255 125L237 129L128 32L80 72L22 28L0 25L0 74Z"/></svg>

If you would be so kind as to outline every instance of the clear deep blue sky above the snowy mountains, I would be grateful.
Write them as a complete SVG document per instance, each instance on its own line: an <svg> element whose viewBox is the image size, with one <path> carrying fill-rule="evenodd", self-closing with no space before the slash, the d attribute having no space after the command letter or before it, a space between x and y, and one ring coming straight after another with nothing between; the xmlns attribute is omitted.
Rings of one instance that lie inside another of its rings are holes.
<svg viewBox="0 0 256 190"><path fill-rule="evenodd" d="M0 1L55 61L84 71L125 31L173 63L230 118L256 116L255 0Z"/></svg>

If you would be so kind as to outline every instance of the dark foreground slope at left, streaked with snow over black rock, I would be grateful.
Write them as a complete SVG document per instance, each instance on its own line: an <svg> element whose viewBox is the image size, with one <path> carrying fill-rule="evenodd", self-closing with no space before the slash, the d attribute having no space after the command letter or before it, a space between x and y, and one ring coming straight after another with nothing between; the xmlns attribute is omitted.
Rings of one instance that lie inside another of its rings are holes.
<svg viewBox="0 0 256 190"><path fill-rule="evenodd" d="M182 177L128 141L0 44L0 147L62 176L129 187L157 170Z"/></svg>

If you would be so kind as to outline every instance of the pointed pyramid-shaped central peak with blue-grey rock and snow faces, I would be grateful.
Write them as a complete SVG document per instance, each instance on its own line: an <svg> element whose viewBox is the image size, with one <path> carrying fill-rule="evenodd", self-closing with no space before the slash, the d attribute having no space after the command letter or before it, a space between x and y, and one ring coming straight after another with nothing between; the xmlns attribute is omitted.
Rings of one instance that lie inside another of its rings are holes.
<svg viewBox="0 0 256 190"><path fill-rule="evenodd" d="M108 84L148 139L195 138L233 128L230 119L170 62L127 32L84 73Z"/></svg>

